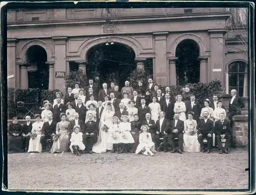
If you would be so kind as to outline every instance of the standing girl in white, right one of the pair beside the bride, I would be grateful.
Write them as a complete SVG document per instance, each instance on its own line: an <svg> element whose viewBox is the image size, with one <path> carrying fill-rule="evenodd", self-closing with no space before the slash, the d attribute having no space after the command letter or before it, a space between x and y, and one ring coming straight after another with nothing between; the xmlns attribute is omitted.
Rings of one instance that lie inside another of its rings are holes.
<svg viewBox="0 0 256 195"><path fill-rule="evenodd" d="M119 153L128 153L127 149L129 148L129 145L131 143L134 143L133 136L131 134L131 123L127 122L129 116L122 115L121 120L122 123L120 123L119 128L120 128L120 143L122 150Z"/></svg>

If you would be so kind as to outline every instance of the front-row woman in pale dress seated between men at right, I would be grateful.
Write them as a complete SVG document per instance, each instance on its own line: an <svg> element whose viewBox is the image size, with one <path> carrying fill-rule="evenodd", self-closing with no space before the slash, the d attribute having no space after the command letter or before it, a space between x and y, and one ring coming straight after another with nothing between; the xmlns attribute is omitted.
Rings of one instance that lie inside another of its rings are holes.
<svg viewBox="0 0 256 195"><path fill-rule="evenodd" d="M197 136L197 121L193 119L193 112L187 113L188 119L184 121L183 151L200 152L200 143Z"/></svg>

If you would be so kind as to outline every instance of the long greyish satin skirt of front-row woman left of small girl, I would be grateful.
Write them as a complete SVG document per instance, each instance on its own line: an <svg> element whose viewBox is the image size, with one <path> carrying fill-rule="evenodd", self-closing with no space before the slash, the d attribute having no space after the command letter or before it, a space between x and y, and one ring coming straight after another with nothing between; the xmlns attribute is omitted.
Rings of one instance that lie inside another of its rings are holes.
<svg viewBox="0 0 256 195"><path fill-rule="evenodd" d="M54 141L51 148L51 153L62 153L68 151L69 136L66 133L61 133L58 140Z"/></svg>

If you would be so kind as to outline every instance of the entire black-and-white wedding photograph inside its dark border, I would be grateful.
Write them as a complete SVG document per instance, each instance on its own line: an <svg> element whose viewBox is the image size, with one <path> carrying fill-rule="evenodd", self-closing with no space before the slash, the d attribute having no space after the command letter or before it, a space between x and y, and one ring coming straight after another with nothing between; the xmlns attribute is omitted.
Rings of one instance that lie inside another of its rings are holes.
<svg viewBox="0 0 256 195"><path fill-rule="evenodd" d="M8 9L8 190L248 189L248 13Z"/></svg>

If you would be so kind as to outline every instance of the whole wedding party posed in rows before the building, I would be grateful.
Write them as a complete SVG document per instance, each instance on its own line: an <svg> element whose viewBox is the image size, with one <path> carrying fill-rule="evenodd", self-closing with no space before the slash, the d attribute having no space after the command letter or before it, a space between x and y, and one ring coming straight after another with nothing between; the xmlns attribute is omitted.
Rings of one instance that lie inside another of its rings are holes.
<svg viewBox="0 0 256 195"><path fill-rule="evenodd" d="M121 91L115 83L102 87L98 90L90 79L84 89L79 83L68 87L64 99L56 93L52 104L44 102L33 124L30 116L23 126L14 117L8 128L8 153L70 150L76 155L131 152L154 156L168 148L171 153L210 153L218 146L220 154L228 154L230 144L236 145L232 116L241 114L245 105L235 89L226 112L217 94L212 94L212 101L205 99L201 108L189 87L174 96L169 87L159 89L152 78L146 86L138 82L132 87L125 81Z"/></svg>

